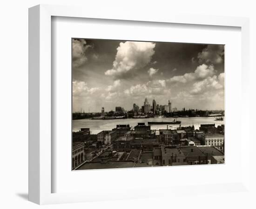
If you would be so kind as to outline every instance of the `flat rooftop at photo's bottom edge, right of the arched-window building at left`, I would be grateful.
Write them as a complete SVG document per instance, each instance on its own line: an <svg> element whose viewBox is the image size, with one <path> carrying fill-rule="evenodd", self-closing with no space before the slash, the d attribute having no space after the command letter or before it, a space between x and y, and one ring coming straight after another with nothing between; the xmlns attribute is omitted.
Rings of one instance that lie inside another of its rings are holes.
<svg viewBox="0 0 256 209"><path fill-rule="evenodd" d="M108 163L84 163L76 170L112 169L112 168L133 168L133 161L110 161Z"/></svg>

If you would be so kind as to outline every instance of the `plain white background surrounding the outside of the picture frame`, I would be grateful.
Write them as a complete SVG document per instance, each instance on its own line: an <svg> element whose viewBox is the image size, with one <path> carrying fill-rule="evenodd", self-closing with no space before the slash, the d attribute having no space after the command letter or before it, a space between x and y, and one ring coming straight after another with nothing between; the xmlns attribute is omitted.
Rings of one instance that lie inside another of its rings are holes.
<svg viewBox="0 0 256 209"><path fill-rule="evenodd" d="M256 107L256 6L250 0L8 0L0 4L0 208L39 208L27 201L28 170L28 7L37 4L81 5L87 10L115 7L128 13L166 13L181 11L191 14L250 17L250 70L251 109ZM250 126L254 127L255 111L251 111ZM253 129L252 129L253 130ZM249 131L246 130L246 131ZM256 139L251 134L251 139ZM255 145L255 143L254 143ZM254 149L251 149L254 150ZM251 154L251 162L256 162ZM255 178L255 166L252 172ZM255 180L253 186L256 188ZM256 196L256 195L255 195ZM255 198L254 196L254 198ZM208 205L201 205L200 199L209 199ZM232 193L220 195L191 196L189 199L171 197L139 199L115 202L89 202L65 205L47 205L44 208L255 208L253 196ZM251 200L251 201L249 201ZM179 202L179 204L177 204ZM175 206L174 206L175 203Z"/></svg>

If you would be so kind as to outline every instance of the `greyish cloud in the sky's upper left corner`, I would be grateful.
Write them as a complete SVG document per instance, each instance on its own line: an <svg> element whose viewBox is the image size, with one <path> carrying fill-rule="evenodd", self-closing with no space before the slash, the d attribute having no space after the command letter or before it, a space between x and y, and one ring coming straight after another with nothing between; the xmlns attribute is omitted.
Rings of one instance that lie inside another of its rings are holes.
<svg viewBox="0 0 256 209"><path fill-rule="evenodd" d="M91 45L85 39L72 39L72 63L74 67L79 67L87 61L85 52Z"/></svg>

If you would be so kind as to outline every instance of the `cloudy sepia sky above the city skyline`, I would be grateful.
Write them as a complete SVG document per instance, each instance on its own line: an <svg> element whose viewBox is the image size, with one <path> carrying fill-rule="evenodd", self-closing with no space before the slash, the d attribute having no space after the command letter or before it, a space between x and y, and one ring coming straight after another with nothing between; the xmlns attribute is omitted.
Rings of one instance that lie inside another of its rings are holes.
<svg viewBox="0 0 256 209"><path fill-rule="evenodd" d="M73 112L131 110L145 98L181 110L224 109L224 46L72 39Z"/></svg>

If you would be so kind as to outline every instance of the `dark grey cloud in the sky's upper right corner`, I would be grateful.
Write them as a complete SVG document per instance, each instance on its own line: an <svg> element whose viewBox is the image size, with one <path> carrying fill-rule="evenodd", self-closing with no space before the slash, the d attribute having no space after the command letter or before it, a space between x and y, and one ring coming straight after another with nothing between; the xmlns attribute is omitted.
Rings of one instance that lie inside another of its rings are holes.
<svg viewBox="0 0 256 209"><path fill-rule="evenodd" d="M224 45L208 45L197 58L199 63L220 64L224 59Z"/></svg>

